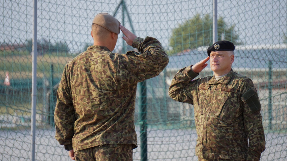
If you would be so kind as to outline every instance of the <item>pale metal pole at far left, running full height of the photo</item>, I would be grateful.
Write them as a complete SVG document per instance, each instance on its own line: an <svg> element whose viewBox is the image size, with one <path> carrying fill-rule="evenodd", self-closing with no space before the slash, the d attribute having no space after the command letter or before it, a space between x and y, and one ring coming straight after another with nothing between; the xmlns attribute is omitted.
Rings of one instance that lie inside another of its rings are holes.
<svg viewBox="0 0 287 161"><path fill-rule="evenodd" d="M33 49L32 49L32 112L31 112L31 160L35 160L36 81L37 81L37 0L33 0Z"/></svg>

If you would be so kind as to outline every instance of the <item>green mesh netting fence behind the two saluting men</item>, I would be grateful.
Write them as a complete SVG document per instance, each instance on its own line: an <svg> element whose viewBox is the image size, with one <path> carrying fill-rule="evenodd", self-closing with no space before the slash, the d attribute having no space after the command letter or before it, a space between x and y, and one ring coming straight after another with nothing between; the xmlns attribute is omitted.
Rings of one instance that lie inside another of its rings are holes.
<svg viewBox="0 0 287 161"><path fill-rule="evenodd" d="M287 2L218 1L218 40L236 45L233 70L253 79L266 137L261 160L287 160ZM31 158L32 0L0 2L0 160ZM212 1L37 1L37 103L35 160L69 160L55 140L55 92L67 61L92 45L94 16L114 15L139 37L160 40L170 63L146 81L146 142L134 160L197 160L193 106L172 100L175 73L207 56L212 45ZM122 33L114 52L130 48ZM210 76L208 65L199 77ZM140 137L140 93L135 124Z"/></svg>

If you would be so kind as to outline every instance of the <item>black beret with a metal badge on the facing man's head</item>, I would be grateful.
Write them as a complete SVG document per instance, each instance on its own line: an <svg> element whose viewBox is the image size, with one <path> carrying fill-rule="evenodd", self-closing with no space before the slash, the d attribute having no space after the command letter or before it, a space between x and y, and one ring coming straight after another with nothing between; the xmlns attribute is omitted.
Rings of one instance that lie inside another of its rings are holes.
<svg viewBox="0 0 287 161"><path fill-rule="evenodd" d="M230 41L217 41L207 49L207 54L210 56L211 51L234 51L235 46Z"/></svg>

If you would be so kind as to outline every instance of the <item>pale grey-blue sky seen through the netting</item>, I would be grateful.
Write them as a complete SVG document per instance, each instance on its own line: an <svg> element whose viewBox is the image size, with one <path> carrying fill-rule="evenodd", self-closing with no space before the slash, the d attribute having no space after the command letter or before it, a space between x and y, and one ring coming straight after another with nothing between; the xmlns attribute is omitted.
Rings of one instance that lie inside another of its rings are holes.
<svg viewBox="0 0 287 161"><path fill-rule="evenodd" d="M66 41L71 51L80 50L84 43L92 43L91 23L100 12L113 14L121 0L71 1L46 0L37 4L37 37ZM139 4L140 2L140 4ZM212 0L144 0L125 1L135 34L152 36L167 48L173 28L178 27L197 13L212 15ZM32 38L32 0L4 1L0 3L0 42L21 43ZM218 17L224 17L244 45L280 44L287 32L287 2L269 1L218 1ZM115 16L131 30L128 17L122 19L122 7ZM121 48L122 33L116 48Z"/></svg>

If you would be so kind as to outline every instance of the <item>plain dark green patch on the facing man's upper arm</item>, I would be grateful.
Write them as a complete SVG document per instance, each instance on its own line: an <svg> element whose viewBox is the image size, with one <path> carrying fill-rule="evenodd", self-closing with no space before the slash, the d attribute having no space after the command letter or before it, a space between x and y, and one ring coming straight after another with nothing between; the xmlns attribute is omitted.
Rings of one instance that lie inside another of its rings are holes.
<svg viewBox="0 0 287 161"><path fill-rule="evenodd" d="M261 108L261 104L257 96L257 91L254 88L251 88L247 92L245 92L242 95L241 100L243 102L246 102L252 113L256 112L257 110L260 110Z"/></svg>

